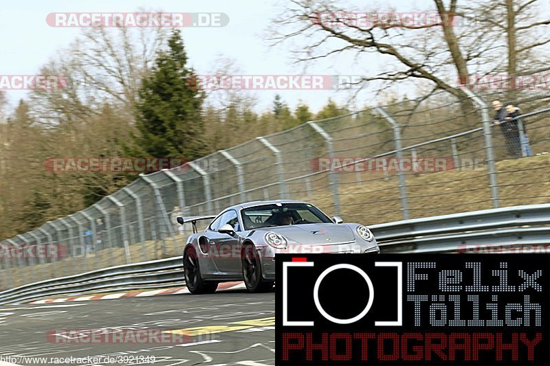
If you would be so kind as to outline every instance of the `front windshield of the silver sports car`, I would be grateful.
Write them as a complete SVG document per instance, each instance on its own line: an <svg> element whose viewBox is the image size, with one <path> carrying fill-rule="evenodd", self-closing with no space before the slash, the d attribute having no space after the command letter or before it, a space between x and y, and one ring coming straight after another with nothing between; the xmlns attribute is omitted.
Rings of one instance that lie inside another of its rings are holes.
<svg viewBox="0 0 550 366"><path fill-rule="evenodd" d="M254 206L241 210L245 230L283 225L332 222L327 215L309 203L283 203Z"/></svg>

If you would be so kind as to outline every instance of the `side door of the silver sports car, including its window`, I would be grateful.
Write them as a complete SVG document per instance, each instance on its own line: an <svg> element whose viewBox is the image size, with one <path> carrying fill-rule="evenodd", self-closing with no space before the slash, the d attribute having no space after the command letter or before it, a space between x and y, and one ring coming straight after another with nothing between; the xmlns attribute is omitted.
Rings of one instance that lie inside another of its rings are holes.
<svg viewBox="0 0 550 366"><path fill-rule="evenodd" d="M234 209L229 209L221 215L219 226L217 229L223 225L230 225L236 233L241 231L241 225L239 225L239 218L237 217L236 211ZM214 237L214 262L218 267L220 272L223 273L240 273L241 271L241 261L240 261L240 252L239 252L239 240L225 233L216 233Z"/></svg>

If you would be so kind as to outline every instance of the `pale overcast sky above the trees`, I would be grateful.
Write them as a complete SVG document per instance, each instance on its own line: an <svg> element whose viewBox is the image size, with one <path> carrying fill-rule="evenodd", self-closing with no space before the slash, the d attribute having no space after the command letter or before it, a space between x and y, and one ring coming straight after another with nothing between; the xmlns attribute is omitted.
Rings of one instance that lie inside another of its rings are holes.
<svg viewBox="0 0 550 366"><path fill-rule="evenodd" d="M0 13L0 75L25 75L39 72L39 67L60 49L80 34L78 27L51 27L46 22L52 12L135 12L140 9L164 12L223 12L229 16L225 27L184 27L182 36L190 58L190 65L197 73L204 74L216 69L219 56L235 61L241 73L249 75L278 75L303 73L303 65L294 64L291 43L270 47L265 32L272 19L281 12L285 0L50 0L50 1L5 1ZM347 0L349 8L372 11L386 10L389 4L371 0ZM433 11L432 0L392 1L391 6L399 12L411 10ZM336 61L321 60L307 67L305 73L312 75L365 75L369 69L384 67L374 54L362 55L358 60L341 57ZM349 91L274 91L252 92L259 100L259 110L270 108L276 93L280 93L290 106L303 100L314 111L327 102L329 97L343 102L349 99ZM8 91L8 100L13 106L24 91ZM358 95L358 105L369 101L369 90Z"/></svg>

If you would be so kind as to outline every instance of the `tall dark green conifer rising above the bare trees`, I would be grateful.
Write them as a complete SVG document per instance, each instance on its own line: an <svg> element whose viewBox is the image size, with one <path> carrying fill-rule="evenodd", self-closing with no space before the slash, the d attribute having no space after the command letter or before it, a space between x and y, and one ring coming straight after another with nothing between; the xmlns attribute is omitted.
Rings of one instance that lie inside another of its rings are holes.
<svg viewBox="0 0 550 366"><path fill-rule="evenodd" d="M168 49L157 54L151 74L138 92L137 142L153 157L201 157L204 95L195 87L195 71L188 67L179 30L168 40Z"/></svg>

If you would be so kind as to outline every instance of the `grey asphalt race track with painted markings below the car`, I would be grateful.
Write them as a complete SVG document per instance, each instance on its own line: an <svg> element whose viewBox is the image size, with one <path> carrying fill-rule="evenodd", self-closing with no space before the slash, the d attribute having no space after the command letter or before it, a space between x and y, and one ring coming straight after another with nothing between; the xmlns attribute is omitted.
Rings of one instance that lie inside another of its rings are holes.
<svg viewBox="0 0 550 366"><path fill-rule="evenodd" d="M71 356L118 356L116 363L72 363L88 366L274 365L274 291L250 294L245 290L228 290L212 295L0 306L0 356L4 361L7 356L18 357L19 365L52 365L50 358ZM87 343L84 339L75 343L52 342L47 334L56 334L52 331L60 329L179 330L186 334L186 341L180 344ZM25 363L21 357L47 357L48 361Z"/></svg>

